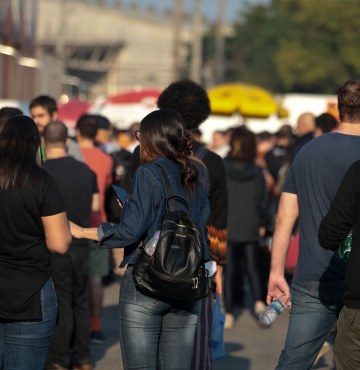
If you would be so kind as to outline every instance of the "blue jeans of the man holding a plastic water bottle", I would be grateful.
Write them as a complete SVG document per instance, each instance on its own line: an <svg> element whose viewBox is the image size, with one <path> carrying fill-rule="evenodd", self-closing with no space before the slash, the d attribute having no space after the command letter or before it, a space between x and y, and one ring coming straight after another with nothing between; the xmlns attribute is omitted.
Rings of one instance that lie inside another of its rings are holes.
<svg viewBox="0 0 360 370"><path fill-rule="evenodd" d="M289 327L277 370L311 369L336 325L344 292L341 281L292 284Z"/></svg>

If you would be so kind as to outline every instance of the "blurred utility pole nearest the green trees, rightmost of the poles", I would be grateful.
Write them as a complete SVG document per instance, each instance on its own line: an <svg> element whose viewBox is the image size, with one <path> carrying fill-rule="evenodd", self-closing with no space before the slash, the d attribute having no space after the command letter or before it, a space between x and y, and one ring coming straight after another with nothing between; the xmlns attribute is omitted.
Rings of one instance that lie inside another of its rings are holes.
<svg viewBox="0 0 360 370"><path fill-rule="evenodd" d="M217 19L215 28L215 83L219 84L224 81L224 34L223 22L225 13L226 0L217 0Z"/></svg>

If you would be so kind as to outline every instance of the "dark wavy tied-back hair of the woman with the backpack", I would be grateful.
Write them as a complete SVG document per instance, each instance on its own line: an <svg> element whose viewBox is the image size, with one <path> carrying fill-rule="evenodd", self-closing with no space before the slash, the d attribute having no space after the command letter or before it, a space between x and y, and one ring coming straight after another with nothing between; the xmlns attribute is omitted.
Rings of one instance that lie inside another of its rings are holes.
<svg viewBox="0 0 360 370"><path fill-rule="evenodd" d="M184 130L184 120L172 109L159 109L140 122L140 156L142 161L166 157L181 167L181 180L187 192L194 189L197 171L190 163L191 133Z"/></svg>

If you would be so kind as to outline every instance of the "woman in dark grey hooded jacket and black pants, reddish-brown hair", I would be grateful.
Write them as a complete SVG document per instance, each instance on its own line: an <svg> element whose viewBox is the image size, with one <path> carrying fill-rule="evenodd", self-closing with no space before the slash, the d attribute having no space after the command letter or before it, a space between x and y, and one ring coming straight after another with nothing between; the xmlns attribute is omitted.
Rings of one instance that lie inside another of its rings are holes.
<svg viewBox="0 0 360 370"><path fill-rule="evenodd" d="M229 195L228 249L224 279L225 327L234 323L233 308L237 271L249 278L254 312L264 308L263 286L259 270L259 238L266 221L267 191L262 169L255 164L256 136L246 127L233 130L230 152L224 159ZM242 281L240 282L242 284Z"/></svg>

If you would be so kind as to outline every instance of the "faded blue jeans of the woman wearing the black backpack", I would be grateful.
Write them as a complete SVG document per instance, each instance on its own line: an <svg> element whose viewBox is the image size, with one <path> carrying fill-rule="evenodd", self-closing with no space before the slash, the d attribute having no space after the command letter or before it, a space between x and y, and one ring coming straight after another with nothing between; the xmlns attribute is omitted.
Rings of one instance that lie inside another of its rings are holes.
<svg viewBox="0 0 360 370"><path fill-rule="evenodd" d="M120 345L124 370L189 370L200 302L161 300L135 288L133 267L120 289Z"/></svg>

